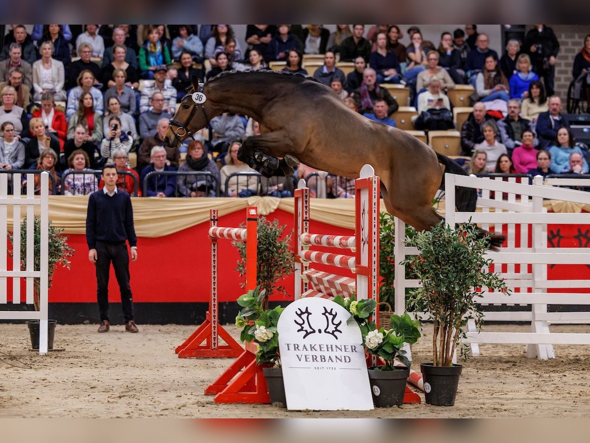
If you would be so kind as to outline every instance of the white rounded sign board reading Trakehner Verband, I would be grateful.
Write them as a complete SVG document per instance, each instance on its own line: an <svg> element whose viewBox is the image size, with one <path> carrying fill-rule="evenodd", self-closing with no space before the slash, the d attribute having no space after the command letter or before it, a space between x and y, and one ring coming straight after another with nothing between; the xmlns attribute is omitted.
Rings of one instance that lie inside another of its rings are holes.
<svg viewBox="0 0 590 443"><path fill-rule="evenodd" d="M345 308L302 298L283 311L277 330L287 409L373 409L360 328Z"/></svg>

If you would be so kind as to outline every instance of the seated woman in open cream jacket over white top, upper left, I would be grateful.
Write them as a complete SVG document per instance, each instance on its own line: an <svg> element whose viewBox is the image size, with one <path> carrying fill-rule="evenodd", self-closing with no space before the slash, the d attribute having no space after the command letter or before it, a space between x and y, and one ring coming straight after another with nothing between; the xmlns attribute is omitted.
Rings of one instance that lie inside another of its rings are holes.
<svg viewBox="0 0 590 443"><path fill-rule="evenodd" d="M65 70L61 61L51 57L53 54L53 43L45 41L39 48L41 60L33 63L33 90L34 100L40 100L45 93L53 93L56 102L65 101Z"/></svg>

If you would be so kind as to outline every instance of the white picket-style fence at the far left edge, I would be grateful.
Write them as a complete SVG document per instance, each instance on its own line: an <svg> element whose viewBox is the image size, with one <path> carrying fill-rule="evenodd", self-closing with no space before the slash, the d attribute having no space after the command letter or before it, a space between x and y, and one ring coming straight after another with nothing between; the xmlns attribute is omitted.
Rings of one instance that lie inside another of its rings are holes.
<svg viewBox="0 0 590 443"><path fill-rule="evenodd" d="M41 174L41 196L35 197L34 174L27 174L27 193L21 195L21 174L12 176L12 194L9 194L8 174L0 174L0 305L22 305L21 281L25 279L24 304L34 304L33 282L40 279L39 311L0 311L0 320L39 320L39 354L47 354L47 278L48 278L48 220L49 174ZM21 206L27 217L27 252L25 270L21 271ZM35 206L40 206L41 249L40 269L34 269L34 228L32 220ZM8 266L8 220L13 221L14 248L11 266ZM10 269L9 269L10 268ZM8 281L12 280L12 299L8 300Z"/></svg>

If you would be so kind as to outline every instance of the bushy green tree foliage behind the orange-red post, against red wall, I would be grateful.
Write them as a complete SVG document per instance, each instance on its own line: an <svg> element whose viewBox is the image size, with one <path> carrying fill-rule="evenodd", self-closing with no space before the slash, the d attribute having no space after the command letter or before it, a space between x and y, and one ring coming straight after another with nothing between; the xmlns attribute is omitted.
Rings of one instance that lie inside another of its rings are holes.
<svg viewBox="0 0 590 443"><path fill-rule="evenodd" d="M240 227L245 227L242 224ZM286 294L283 285L277 283L283 280L287 275L293 272L294 256L291 250L291 236L293 232L283 236L283 230L286 225L280 226L278 220L270 222L266 217L258 219L258 263L257 263L257 282L261 289L264 289L267 294L266 301L263 302L263 307L268 307L268 297L273 294L273 291L282 292ZM246 243L232 242L240 252L240 261L236 271L240 275L246 273ZM242 285L243 286L243 285Z"/></svg>

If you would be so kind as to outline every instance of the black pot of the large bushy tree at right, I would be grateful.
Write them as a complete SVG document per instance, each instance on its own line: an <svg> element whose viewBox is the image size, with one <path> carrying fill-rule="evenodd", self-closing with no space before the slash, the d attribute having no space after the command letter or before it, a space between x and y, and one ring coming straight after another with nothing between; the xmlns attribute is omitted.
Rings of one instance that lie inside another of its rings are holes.
<svg viewBox="0 0 590 443"><path fill-rule="evenodd" d="M422 363L420 370L426 403L434 406L453 406L463 366L434 366L432 363Z"/></svg>

